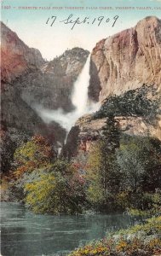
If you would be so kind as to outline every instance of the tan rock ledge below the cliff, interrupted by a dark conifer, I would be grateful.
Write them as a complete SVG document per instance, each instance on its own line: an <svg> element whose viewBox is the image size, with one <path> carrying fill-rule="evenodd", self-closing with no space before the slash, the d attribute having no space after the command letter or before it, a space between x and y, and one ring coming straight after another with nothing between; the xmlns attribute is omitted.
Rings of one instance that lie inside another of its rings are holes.
<svg viewBox="0 0 161 256"><path fill-rule="evenodd" d="M161 122L149 123L143 117L116 116L121 133L129 136L151 136L161 140ZM88 154L95 146L95 142L102 138L102 130L106 126L106 118L93 119L92 115L78 119L78 122L69 133L66 141L66 157L78 157L81 154ZM71 147L72 145L72 147Z"/></svg>

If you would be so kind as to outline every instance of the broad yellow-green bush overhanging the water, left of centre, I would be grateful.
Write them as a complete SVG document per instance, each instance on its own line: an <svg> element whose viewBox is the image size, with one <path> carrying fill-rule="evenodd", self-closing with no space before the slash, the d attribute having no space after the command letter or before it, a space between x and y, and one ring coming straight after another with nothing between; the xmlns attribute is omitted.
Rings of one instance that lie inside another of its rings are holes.
<svg viewBox="0 0 161 256"><path fill-rule="evenodd" d="M49 170L37 170L25 183L26 206L38 213L82 212L85 203L84 181L66 161L56 160ZM32 173L33 174L33 173Z"/></svg>

